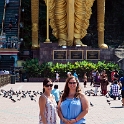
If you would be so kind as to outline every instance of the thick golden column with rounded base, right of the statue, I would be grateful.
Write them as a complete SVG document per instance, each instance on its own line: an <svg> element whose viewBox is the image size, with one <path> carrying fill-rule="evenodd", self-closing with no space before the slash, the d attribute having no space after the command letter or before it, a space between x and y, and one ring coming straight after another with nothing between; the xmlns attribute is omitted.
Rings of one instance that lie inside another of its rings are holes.
<svg viewBox="0 0 124 124"><path fill-rule="evenodd" d="M98 23L98 46L107 49L104 44L104 16L105 16L105 0L97 0L97 23Z"/></svg>

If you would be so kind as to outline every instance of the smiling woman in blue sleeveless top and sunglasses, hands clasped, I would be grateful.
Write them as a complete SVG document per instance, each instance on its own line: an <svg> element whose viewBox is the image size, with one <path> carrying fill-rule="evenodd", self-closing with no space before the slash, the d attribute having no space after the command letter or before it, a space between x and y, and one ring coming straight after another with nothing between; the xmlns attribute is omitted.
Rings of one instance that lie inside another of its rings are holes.
<svg viewBox="0 0 124 124"><path fill-rule="evenodd" d="M67 78L63 95L58 104L60 124L86 124L84 116L88 113L89 104L81 93L78 80Z"/></svg>

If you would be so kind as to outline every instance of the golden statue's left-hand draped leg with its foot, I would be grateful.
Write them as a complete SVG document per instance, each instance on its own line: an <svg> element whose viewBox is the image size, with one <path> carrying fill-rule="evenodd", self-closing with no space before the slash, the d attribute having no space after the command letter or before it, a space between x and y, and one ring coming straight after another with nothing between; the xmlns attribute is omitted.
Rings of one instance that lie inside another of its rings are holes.
<svg viewBox="0 0 124 124"><path fill-rule="evenodd" d="M67 45L67 13L66 13L66 1L55 0L55 22L57 28L58 45Z"/></svg>

